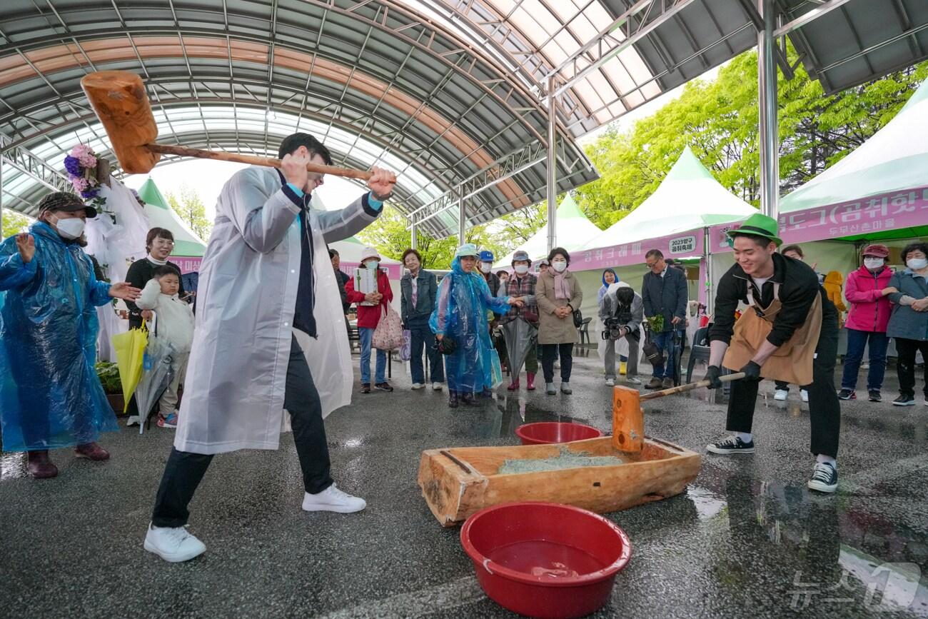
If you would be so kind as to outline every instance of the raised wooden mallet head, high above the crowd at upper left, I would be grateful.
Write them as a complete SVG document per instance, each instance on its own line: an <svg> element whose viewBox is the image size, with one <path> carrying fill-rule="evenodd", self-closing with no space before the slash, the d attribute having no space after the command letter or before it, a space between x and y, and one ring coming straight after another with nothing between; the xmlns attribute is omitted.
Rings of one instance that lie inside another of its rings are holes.
<svg viewBox="0 0 928 619"><path fill-rule="evenodd" d="M97 71L84 75L81 87L126 174L150 172L161 154L147 147L158 139L158 125L142 78L130 71Z"/></svg>

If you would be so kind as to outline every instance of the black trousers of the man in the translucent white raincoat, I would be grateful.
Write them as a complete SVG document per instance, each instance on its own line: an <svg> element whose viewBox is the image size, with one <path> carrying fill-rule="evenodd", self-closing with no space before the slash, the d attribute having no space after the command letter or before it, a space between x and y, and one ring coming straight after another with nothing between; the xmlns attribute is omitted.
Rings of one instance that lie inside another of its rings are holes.
<svg viewBox="0 0 928 619"><path fill-rule="evenodd" d="M290 411L293 442L296 443L296 453L303 470L303 488L315 495L332 484L329 445L326 442L326 427L322 420L319 393L306 364L306 357L295 337L290 344L284 408ZM190 515L187 505L212 460L212 455L171 449L171 456L161 477L158 496L155 498L152 524L170 527L187 524Z"/></svg>

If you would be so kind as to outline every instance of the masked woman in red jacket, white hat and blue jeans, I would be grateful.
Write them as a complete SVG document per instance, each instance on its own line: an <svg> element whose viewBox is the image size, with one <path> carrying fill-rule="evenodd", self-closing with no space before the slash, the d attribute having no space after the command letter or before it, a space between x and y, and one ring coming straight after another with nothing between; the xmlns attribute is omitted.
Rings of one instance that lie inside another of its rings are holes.
<svg viewBox="0 0 928 619"><path fill-rule="evenodd" d="M374 338L374 329L380 324L380 316L387 305L393 301L393 289L386 271L380 269L380 254L372 247L361 251L361 264L377 272L377 292L358 292L354 290L354 277L345 284L345 296L348 303L357 303L357 337L361 344L361 393L370 393L370 346ZM367 303L367 304L363 304ZM387 351L377 351L377 365L374 368L374 389L392 392L393 387L387 382Z"/></svg>

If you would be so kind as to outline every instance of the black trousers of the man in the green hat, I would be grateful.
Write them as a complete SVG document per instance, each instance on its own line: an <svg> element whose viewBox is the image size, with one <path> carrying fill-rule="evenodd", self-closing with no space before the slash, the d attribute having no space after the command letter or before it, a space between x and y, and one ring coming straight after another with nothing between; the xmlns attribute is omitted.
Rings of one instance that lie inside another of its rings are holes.
<svg viewBox="0 0 928 619"><path fill-rule="evenodd" d="M812 384L809 392L809 418L812 422L813 454L836 458L838 434L841 431L841 404L834 391L834 364L838 357L838 325L823 322L812 361ZM731 382L731 397L728 400L729 432L751 432L754 421L754 406L757 404L759 383L749 380Z"/></svg>

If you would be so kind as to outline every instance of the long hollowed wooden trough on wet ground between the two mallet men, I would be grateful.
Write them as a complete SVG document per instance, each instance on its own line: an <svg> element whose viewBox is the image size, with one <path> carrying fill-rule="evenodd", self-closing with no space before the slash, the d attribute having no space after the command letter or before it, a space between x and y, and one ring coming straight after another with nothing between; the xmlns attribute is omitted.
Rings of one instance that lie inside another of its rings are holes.
<svg viewBox="0 0 928 619"><path fill-rule="evenodd" d="M499 474L506 460L573 454L622 458L623 464L560 471ZM561 445L429 449L419 462L419 486L442 526L454 526L485 507L513 501L565 503L598 513L633 508L683 492L696 478L699 454L645 437L640 451L612 445L611 436Z"/></svg>

